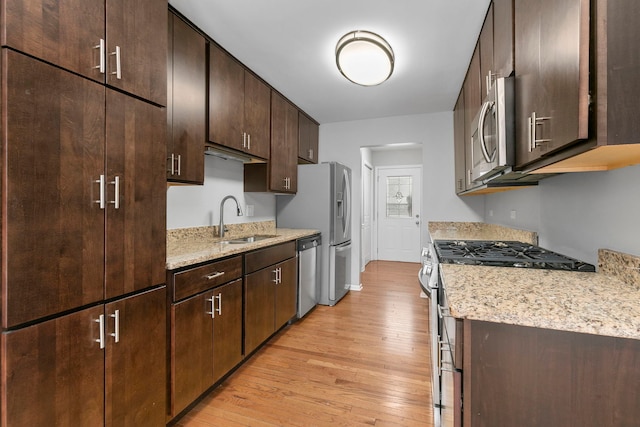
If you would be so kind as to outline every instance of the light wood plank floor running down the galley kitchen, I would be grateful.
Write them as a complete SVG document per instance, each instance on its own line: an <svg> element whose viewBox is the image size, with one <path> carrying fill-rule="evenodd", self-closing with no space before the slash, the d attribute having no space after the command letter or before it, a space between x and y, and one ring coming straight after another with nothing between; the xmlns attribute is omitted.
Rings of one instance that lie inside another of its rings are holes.
<svg viewBox="0 0 640 427"><path fill-rule="evenodd" d="M362 291L286 327L177 425L430 426L418 269L369 263Z"/></svg>

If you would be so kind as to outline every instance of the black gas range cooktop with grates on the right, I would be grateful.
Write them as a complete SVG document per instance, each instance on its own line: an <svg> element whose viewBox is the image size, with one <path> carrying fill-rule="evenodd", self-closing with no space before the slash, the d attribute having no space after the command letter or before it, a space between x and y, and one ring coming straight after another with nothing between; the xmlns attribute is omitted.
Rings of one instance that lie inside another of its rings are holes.
<svg viewBox="0 0 640 427"><path fill-rule="evenodd" d="M436 240L434 246L444 264L596 271L591 264L523 242Z"/></svg>

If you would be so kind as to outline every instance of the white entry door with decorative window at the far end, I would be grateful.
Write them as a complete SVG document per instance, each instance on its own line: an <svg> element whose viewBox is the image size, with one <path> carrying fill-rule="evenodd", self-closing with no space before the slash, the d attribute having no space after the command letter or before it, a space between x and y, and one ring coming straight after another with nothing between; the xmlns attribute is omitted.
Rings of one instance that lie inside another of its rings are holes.
<svg viewBox="0 0 640 427"><path fill-rule="evenodd" d="M420 262L422 166L377 170L378 259Z"/></svg>

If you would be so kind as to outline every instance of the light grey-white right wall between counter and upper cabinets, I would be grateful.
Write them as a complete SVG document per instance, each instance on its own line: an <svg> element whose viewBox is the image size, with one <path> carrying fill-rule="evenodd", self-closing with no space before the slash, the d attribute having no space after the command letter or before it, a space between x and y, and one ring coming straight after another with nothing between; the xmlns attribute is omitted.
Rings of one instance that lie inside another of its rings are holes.
<svg viewBox="0 0 640 427"><path fill-rule="evenodd" d="M599 248L640 255L639 184L640 165L554 176L537 189L487 196L487 222L537 231L540 246L593 264Z"/></svg>

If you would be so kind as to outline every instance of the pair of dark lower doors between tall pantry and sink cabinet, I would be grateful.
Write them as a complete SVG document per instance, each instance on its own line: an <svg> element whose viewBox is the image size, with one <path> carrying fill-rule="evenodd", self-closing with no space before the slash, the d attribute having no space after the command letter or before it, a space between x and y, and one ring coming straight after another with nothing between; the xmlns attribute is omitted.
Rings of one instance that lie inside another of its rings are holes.
<svg viewBox="0 0 640 427"><path fill-rule="evenodd" d="M172 306L171 414L242 361L242 279Z"/></svg>

